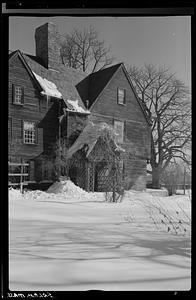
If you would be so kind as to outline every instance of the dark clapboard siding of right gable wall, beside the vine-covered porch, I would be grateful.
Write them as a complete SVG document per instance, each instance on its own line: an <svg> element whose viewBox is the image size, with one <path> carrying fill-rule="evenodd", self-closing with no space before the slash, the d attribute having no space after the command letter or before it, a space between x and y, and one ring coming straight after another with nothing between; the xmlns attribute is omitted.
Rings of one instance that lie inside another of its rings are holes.
<svg viewBox="0 0 196 300"><path fill-rule="evenodd" d="M117 103L117 88L126 90L126 104ZM127 188L142 190L146 187L146 160L150 157L150 127L122 68L101 92L91 108L91 120L113 125L114 120L124 122L124 143L127 152L124 161Z"/></svg>

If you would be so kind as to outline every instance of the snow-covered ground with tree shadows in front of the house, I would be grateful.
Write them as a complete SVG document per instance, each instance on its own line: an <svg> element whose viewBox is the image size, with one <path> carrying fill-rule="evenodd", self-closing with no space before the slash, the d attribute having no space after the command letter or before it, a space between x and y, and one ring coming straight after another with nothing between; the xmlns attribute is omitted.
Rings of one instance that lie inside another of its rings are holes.
<svg viewBox="0 0 196 300"><path fill-rule="evenodd" d="M12 291L189 290L190 195L9 190Z"/></svg>

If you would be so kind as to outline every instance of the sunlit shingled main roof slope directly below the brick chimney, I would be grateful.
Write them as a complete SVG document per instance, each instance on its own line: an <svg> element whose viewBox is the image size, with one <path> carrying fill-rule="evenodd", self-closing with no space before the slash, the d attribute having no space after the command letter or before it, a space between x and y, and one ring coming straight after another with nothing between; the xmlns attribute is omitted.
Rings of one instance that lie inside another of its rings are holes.
<svg viewBox="0 0 196 300"><path fill-rule="evenodd" d="M20 50L17 50L14 53L12 52L9 56L10 59L15 55L20 56L25 67L29 71L30 75L33 76L33 79L37 82L37 84L39 84L39 82L36 80L34 73L42 78L46 78L48 81L53 82L57 86L68 109L72 110L73 108L67 100L78 100L78 105L85 110L85 106L76 89L76 85L87 76L86 73L68 68L63 64L59 65L58 72L47 69L43 66L42 61L39 58L33 55L21 53ZM42 90L40 84L39 87Z"/></svg>

